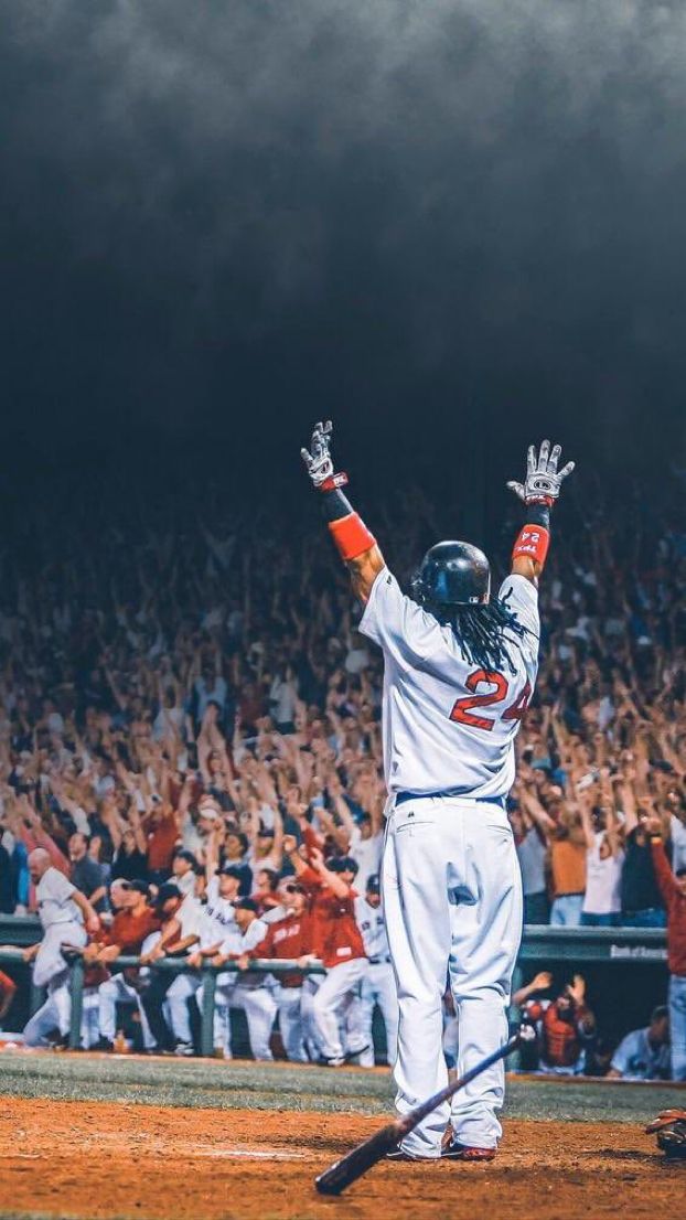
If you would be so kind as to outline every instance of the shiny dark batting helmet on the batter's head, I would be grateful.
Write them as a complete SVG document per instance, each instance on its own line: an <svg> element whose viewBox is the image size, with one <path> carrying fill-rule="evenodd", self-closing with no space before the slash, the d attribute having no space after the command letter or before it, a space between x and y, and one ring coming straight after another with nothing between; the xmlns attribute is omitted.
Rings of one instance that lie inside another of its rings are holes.
<svg viewBox="0 0 686 1220"><path fill-rule="evenodd" d="M427 550L411 583L413 598L427 610L485 605L491 597L491 565L469 542L439 542Z"/></svg>

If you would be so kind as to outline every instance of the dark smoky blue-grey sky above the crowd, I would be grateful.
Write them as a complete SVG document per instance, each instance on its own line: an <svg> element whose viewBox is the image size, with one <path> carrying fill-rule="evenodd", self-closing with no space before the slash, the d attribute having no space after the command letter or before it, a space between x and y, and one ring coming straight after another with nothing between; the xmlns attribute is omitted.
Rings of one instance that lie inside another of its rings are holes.
<svg viewBox="0 0 686 1220"><path fill-rule="evenodd" d="M269 473L322 415L378 470L499 468L543 431L680 456L684 5L0 17L12 462L177 444Z"/></svg>

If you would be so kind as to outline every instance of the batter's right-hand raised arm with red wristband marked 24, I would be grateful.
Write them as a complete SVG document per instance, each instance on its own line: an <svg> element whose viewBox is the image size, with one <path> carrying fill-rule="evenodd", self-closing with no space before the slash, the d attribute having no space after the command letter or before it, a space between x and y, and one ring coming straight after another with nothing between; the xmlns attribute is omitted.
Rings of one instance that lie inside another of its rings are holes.
<svg viewBox="0 0 686 1220"><path fill-rule="evenodd" d="M536 447L530 445L524 483L508 483L526 509L525 525L513 549L511 570L532 584L538 583L551 544L551 510L560 494L563 479L574 470L574 462L568 461L558 471L560 456L561 447L554 445L551 450L549 440L541 443L538 456Z"/></svg>

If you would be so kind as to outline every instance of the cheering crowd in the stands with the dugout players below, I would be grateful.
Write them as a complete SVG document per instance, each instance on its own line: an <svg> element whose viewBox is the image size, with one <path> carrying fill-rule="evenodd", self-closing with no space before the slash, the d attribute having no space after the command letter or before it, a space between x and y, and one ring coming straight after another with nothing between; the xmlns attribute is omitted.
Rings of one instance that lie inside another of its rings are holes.
<svg viewBox="0 0 686 1220"><path fill-rule="evenodd" d="M146 1047L192 1053L200 974L109 969L121 953L148 966L190 953L197 969L240 966L218 975L218 1053L240 1008L258 1058L278 1016L291 1058L371 1064L378 1005L392 1054L381 661L323 531L229 512L214 493L201 516L171 497L110 510L73 510L65 528L27 506L2 556L0 911L50 919L62 904L92 1044L114 1046L128 1003ZM367 516L382 534L385 506ZM388 534L405 576L441 531L415 490ZM664 927L669 911L686 1025L685 594L666 499L636 492L613 517L586 487L542 583L509 809L526 922ZM254 958L295 966L265 977ZM60 970L42 974L46 960ZM326 972L304 975L315 960ZM35 965L52 1005L29 1022L42 1042L50 1021L66 1032L68 992L59 952Z"/></svg>

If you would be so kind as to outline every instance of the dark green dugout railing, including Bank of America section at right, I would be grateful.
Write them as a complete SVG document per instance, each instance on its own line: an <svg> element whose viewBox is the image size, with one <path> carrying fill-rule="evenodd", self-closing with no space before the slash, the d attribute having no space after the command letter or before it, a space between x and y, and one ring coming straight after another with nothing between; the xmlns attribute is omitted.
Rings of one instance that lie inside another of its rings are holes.
<svg viewBox="0 0 686 1220"><path fill-rule="evenodd" d="M22 949L40 941L42 928L37 916L0 916L0 966L2 963L26 966L26 981L31 987L29 1010L34 1013L43 1003L44 992L31 985L31 966L23 963ZM551 927L549 925L526 925L518 958L516 969L513 977L513 993L524 985L524 975L527 964L542 965L551 961L585 963L607 965L608 967L630 966L631 963L649 965L654 964L664 969L666 964L666 933L662 928L623 928L623 927ZM122 955L115 963L110 963L110 970L123 970L127 966L139 965L135 956ZM151 970L171 971L181 974L188 970L188 959L165 958L150 965ZM83 986L84 965L79 955L74 955L70 965L72 1014L70 1028L70 1047L81 1048L81 1024L83 1014ZM312 964L304 970L297 961L275 961L272 959L260 959L250 963L250 970L260 971L265 975L292 974L298 970L300 974L321 975L325 967L321 964ZM236 971L237 965L227 963L222 966L204 965L194 971L198 976L198 985L204 983L203 1003L200 1009L200 1053L211 1055L214 1047L214 1010L216 977L218 974ZM516 1013L513 1011L513 1017Z"/></svg>

